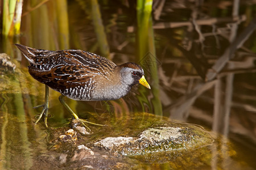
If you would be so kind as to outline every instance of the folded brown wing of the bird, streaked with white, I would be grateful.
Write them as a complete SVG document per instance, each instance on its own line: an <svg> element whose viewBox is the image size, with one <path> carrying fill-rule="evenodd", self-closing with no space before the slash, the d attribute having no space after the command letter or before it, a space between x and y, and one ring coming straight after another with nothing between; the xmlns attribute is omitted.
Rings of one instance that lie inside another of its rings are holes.
<svg viewBox="0 0 256 170"><path fill-rule="evenodd" d="M51 59L59 61L55 65L42 69L40 66L28 66L29 73L39 82L46 84L54 90L60 91L77 86L88 86L100 79L108 79L108 74L113 71L115 64L108 59L96 54L82 51L62 51L61 59L56 55L49 55L44 59L49 65ZM89 55L89 56L85 56Z"/></svg>

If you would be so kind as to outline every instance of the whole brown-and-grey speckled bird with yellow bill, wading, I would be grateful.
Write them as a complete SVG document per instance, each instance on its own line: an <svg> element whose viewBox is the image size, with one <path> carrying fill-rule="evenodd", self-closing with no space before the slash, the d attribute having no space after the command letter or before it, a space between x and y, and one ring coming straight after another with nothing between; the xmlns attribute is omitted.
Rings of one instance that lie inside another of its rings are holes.
<svg viewBox="0 0 256 170"><path fill-rule="evenodd" d="M35 124L44 114L44 124L48 127L48 87L60 92L60 103L85 127L87 126L84 122L93 123L80 119L65 103L64 96L82 101L115 100L125 96L134 84L140 83L150 89L142 67L136 63L115 65L105 57L83 50L51 51L15 45L30 63L28 66L30 75L40 83L46 84L44 104L34 107L43 107Z"/></svg>

